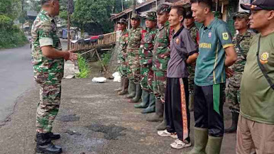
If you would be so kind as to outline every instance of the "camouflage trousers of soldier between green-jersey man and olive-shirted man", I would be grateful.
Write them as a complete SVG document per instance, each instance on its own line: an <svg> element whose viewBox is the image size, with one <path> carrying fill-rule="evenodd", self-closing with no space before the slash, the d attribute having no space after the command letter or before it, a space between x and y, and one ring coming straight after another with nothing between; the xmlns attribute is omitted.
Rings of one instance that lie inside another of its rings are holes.
<svg viewBox="0 0 274 154"><path fill-rule="evenodd" d="M226 100L232 112L240 112L240 86L228 84Z"/></svg>

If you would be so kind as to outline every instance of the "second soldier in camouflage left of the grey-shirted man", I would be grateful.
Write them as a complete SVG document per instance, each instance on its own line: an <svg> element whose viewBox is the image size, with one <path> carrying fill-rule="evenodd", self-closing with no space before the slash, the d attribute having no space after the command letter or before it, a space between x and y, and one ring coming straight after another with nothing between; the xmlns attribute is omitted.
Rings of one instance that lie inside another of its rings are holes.
<svg viewBox="0 0 274 154"><path fill-rule="evenodd" d="M157 15L156 12L148 12L146 15L146 27L147 33L141 40L139 55L140 55L140 66L141 66L141 80L140 84L142 87L142 103L134 105L136 108L146 108L142 110L142 114L155 112L155 95L153 90L150 89L148 76L153 73L152 70L152 57L154 38L157 33ZM151 72L151 73L149 73ZM150 82L151 83L151 82Z"/></svg>

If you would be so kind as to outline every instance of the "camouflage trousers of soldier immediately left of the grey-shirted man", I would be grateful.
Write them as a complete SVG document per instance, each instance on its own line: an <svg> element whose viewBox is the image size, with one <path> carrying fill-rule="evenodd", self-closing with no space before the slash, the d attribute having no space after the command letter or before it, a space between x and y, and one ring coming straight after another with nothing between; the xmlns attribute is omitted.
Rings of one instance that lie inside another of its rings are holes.
<svg viewBox="0 0 274 154"><path fill-rule="evenodd" d="M156 98L160 98L162 103L166 93L166 71L154 71L153 92Z"/></svg>

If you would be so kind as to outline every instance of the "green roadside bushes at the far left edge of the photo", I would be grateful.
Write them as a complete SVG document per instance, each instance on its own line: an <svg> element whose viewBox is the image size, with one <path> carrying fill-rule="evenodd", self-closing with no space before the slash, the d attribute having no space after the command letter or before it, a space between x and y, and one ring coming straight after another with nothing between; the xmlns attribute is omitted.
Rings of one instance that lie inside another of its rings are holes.
<svg viewBox="0 0 274 154"><path fill-rule="evenodd" d="M0 49L20 47L26 43L27 38L19 27L12 26L6 29L0 27Z"/></svg>

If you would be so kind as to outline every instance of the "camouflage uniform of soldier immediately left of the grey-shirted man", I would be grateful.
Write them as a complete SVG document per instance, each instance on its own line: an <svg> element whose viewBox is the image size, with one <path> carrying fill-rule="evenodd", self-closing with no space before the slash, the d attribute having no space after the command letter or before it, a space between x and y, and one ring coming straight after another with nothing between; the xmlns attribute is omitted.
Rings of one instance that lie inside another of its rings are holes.
<svg viewBox="0 0 274 154"><path fill-rule="evenodd" d="M156 97L160 97L164 102L166 90L166 69L170 59L170 42L171 31L169 21L166 21L158 30L155 36L155 44L153 49L153 92Z"/></svg>

